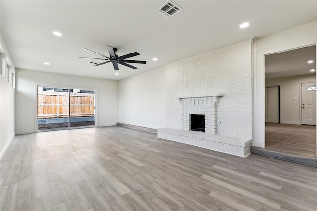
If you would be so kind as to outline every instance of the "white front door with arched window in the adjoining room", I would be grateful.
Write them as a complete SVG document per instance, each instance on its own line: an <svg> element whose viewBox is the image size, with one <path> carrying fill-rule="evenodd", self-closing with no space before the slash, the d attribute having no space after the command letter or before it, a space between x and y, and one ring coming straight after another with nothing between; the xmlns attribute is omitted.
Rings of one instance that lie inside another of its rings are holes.
<svg viewBox="0 0 317 211"><path fill-rule="evenodd" d="M316 125L316 83L302 83L302 124Z"/></svg>

